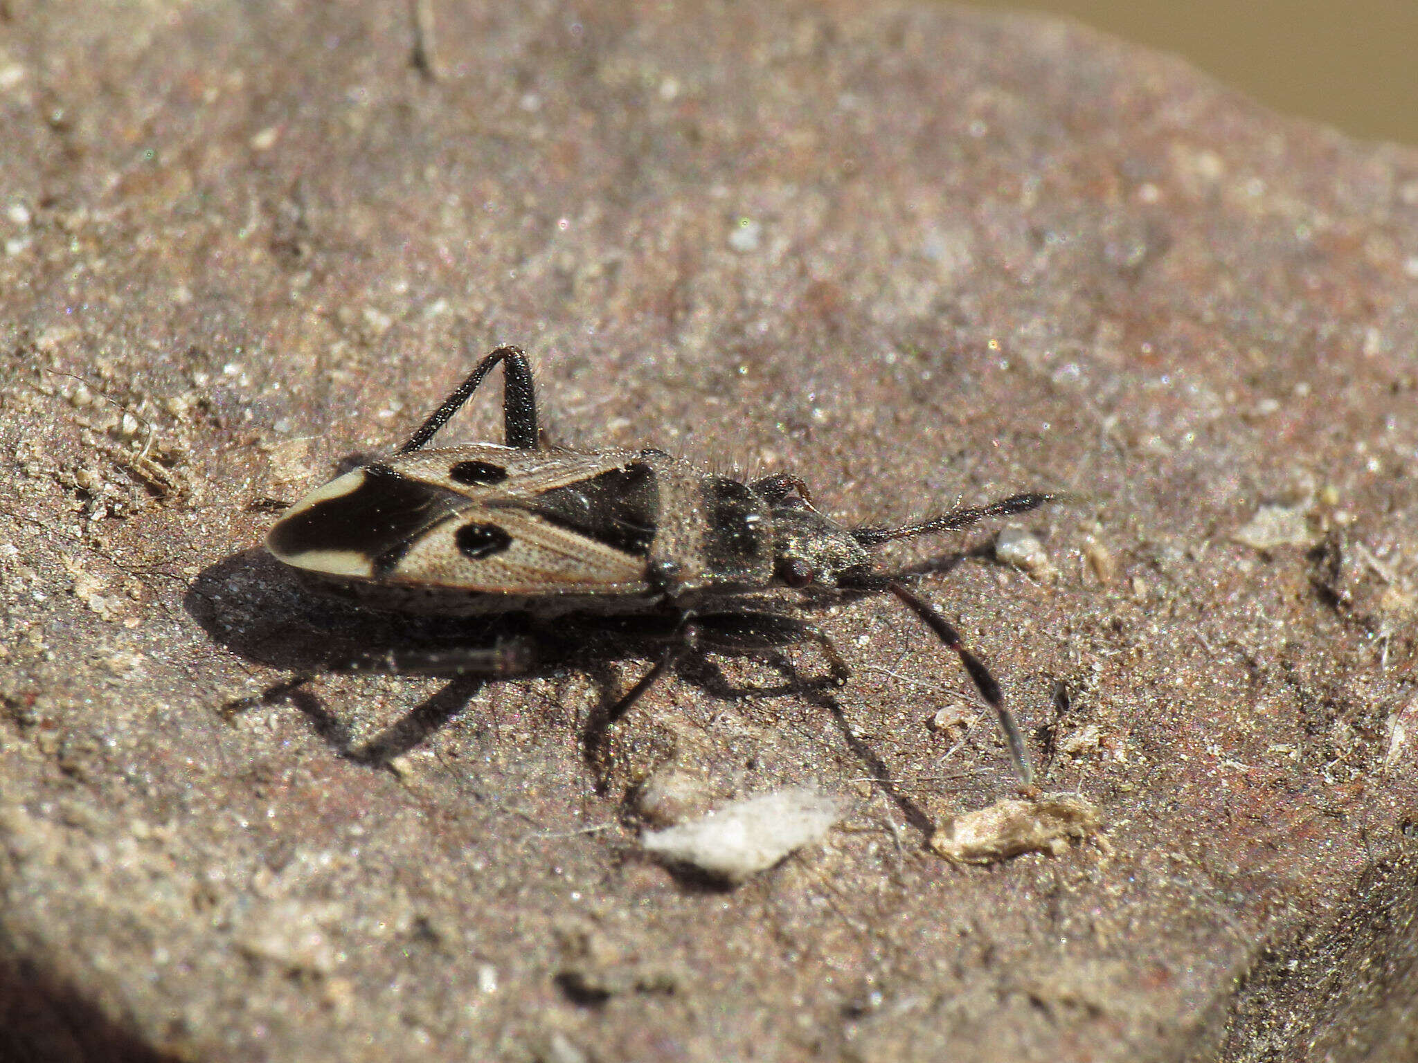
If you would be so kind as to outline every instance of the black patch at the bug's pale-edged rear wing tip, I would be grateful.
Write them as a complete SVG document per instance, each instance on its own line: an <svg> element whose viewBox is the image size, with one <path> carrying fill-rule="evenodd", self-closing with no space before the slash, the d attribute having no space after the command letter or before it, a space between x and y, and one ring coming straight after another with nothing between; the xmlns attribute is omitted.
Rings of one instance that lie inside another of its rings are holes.
<svg viewBox="0 0 1418 1063"><path fill-rule="evenodd" d="M403 476L387 465L367 465L363 472L353 490L278 522L271 529L271 549L284 557L349 550L372 558L376 568L393 556L387 566L391 567L420 532L467 506L462 496Z"/></svg>

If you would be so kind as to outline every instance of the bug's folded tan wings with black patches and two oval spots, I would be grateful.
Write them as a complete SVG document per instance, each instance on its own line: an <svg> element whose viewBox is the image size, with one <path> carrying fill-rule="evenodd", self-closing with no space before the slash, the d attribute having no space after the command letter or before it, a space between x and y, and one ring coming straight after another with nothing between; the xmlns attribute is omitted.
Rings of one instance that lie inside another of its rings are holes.
<svg viewBox="0 0 1418 1063"><path fill-rule="evenodd" d="M472 445L354 469L267 546L339 580L506 595L644 594L659 496L630 451Z"/></svg>

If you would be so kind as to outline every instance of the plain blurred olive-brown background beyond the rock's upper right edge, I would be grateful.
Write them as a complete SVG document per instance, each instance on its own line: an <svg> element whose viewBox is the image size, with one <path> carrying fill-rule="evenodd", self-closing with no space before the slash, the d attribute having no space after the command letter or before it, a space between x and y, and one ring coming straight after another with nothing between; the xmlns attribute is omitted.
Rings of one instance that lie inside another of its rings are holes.
<svg viewBox="0 0 1418 1063"><path fill-rule="evenodd" d="M1024 7L1184 55L1276 111L1351 136L1418 145L1418 0L1034 0Z"/></svg>

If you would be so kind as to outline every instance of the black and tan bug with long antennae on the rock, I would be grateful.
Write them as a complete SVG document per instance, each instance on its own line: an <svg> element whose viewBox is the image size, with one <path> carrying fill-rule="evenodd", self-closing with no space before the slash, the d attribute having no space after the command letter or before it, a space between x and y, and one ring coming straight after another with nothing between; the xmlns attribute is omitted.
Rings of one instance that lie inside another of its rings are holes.
<svg viewBox="0 0 1418 1063"><path fill-rule="evenodd" d="M428 449L488 373L503 367L503 444ZM522 629L576 629L637 618L665 649L608 710L618 720L691 649L725 652L831 641L794 615L800 595L889 592L959 656L994 709L1014 768L1032 768L998 682L954 626L876 570L872 549L899 539L1025 513L1058 496L1031 492L896 527L844 527L791 473L742 482L658 449L546 446L526 354L493 350L390 458L346 472L286 510L267 549L311 585L398 612L520 618ZM525 668L520 638L441 651L423 662L454 673Z"/></svg>

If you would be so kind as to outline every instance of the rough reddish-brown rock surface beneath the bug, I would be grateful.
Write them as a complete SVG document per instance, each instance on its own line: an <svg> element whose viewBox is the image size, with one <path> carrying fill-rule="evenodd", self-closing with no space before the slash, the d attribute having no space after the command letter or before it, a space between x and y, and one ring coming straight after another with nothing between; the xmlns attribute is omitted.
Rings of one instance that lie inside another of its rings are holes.
<svg viewBox="0 0 1418 1063"><path fill-rule="evenodd" d="M3 7L0 1049L1412 1052L1418 154L1052 21L756 7ZM1110 855L929 852L1010 765L930 726L968 683L882 598L818 618L845 687L813 646L685 666L600 775L649 659L610 641L228 723L450 636L257 544L496 342L557 442L795 471L842 519L1078 492L1018 522L1048 583L995 529L888 554L946 557L922 592ZM1312 546L1236 541L1297 505ZM686 882L631 812L675 758L847 818Z"/></svg>

